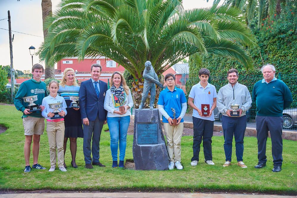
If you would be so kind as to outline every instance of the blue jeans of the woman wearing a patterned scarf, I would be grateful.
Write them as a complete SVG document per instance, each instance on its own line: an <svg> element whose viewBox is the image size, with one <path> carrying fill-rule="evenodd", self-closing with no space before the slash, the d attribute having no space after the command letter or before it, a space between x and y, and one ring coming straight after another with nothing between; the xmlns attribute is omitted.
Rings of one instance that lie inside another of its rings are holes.
<svg viewBox="0 0 297 198"><path fill-rule="evenodd" d="M124 161L129 123L130 116L107 117L110 133L110 150L113 161L118 160L118 145L120 148L120 160Z"/></svg>

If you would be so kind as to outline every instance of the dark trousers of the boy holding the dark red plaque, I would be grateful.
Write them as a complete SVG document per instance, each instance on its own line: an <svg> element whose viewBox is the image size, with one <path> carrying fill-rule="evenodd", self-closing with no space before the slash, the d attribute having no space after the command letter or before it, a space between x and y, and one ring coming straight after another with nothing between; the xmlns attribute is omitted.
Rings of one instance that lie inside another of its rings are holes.
<svg viewBox="0 0 297 198"><path fill-rule="evenodd" d="M214 134L214 121L193 117L193 157L191 161L199 161L200 144L203 140L205 160L212 160L211 138Z"/></svg>

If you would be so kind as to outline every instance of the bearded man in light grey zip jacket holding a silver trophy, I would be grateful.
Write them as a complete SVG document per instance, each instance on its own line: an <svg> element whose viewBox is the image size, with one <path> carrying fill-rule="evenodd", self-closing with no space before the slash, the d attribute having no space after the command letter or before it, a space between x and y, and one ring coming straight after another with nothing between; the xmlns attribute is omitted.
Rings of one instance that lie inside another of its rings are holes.
<svg viewBox="0 0 297 198"><path fill-rule="evenodd" d="M247 87L243 84L239 84L238 71L236 69L230 69L227 72L227 78L229 83L223 86L217 94L217 107L222 116L222 127L224 132L224 150L226 162L223 167L231 165L232 156L232 141L233 135L235 139L236 158L237 165L242 168L247 168L243 161L243 138L244 132L247 127L247 116L245 112L249 110L252 104L251 94ZM230 105L238 104L238 116L231 116L232 111Z"/></svg>

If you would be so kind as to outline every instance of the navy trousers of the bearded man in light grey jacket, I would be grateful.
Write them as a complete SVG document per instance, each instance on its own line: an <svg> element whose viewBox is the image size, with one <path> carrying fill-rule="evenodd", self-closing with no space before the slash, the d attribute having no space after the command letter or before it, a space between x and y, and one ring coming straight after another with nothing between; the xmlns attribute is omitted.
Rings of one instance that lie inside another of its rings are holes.
<svg viewBox="0 0 297 198"><path fill-rule="evenodd" d="M247 116L229 117L222 116L222 127L224 132L224 150L226 161L231 162L233 135L235 139L235 149L237 162L243 161L243 138L247 128Z"/></svg>

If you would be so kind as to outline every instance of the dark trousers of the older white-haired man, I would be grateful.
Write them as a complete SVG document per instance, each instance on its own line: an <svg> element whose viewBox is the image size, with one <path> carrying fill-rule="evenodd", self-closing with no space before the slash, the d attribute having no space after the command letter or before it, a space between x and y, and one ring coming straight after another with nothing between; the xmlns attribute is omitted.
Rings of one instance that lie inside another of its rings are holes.
<svg viewBox="0 0 297 198"><path fill-rule="evenodd" d="M258 140L258 160L266 163L266 142L268 131L271 137L271 150L273 164L282 166L282 125L283 118L272 116L256 116L256 129Z"/></svg>

